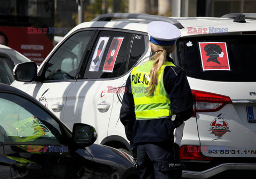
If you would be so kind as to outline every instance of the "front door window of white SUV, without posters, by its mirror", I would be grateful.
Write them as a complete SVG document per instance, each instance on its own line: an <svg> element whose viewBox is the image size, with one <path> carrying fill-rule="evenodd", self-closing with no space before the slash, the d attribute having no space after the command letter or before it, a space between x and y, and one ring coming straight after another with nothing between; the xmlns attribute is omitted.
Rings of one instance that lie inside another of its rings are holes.
<svg viewBox="0 0 256 179"><path fill-rule="evenodd" d="M45 66L45 80L75 79L94 30L80 31L66 40Z"/></svg>

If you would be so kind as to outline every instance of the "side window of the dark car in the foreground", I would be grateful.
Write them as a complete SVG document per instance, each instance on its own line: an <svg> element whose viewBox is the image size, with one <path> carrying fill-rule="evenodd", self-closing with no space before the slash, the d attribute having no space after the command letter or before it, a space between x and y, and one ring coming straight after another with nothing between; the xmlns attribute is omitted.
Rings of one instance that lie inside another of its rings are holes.
<svg viewBox="0 0 256 179"><path fill-rule="evenodd" d="M0 142L60 144L62 137L57 121L38 105L0 93Z"/></svg>

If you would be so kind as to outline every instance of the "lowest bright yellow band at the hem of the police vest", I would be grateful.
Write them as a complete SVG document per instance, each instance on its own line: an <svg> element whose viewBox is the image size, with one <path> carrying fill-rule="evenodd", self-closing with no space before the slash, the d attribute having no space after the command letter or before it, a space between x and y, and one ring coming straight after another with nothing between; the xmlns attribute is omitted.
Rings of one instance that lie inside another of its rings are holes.
<svg viewBox="0 0 256 179"><path fill-rule="evenodd" d="M156 110L147 110L147 111L135 111L136 118L141 119L150 119L150 118L159 118L170 116L169 109L156 109Z"/></svg>

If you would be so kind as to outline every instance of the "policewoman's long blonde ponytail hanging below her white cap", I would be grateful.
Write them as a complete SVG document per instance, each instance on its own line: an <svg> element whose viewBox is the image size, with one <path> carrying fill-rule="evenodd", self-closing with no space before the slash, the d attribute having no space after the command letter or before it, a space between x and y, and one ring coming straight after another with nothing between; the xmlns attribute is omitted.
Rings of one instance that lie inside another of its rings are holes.
<svg viewBox="0 0 256 179"><path fill-rule="evenodd" d="M157 83L159 82L158 80L158 71L160 68L163 66L163 64L166 61L166 56L170 55L170 53L174 52L175 49L175 44L174 45L156 45L151 43L151 48L153 52L156 52L149 60L153 60L153 66L150 70L150 82L148 86L148 96L151 96L155 90L155 87Z"/></svg>

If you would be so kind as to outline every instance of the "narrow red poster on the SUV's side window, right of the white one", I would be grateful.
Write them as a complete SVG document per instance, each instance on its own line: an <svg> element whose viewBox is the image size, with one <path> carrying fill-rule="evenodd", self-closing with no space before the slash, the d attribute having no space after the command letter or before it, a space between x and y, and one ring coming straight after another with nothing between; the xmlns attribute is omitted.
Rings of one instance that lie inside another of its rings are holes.
<svg viewBox="0 0 256 179"><path fill-rule="evenodd" d="M108 50L107 58L102 71L113 72L115 61L124 37L114 37Z"/></svg>

